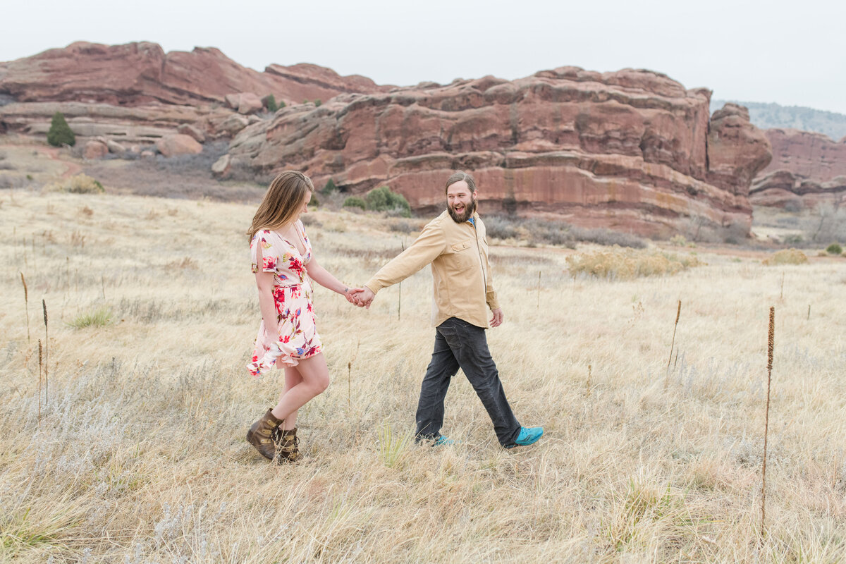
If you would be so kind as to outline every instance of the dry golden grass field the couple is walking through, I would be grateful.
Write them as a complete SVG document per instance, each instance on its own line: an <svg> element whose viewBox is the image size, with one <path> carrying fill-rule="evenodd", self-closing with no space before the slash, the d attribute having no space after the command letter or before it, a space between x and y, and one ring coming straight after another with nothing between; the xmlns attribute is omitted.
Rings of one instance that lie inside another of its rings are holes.
<svg viewBox="0 0 846 564"><path fill-rule="evenodd" d="M514 451L460 373L459 444L411 440L427 270L369 311L318 288L332 385L300 411L302 462L275 467L244 441L281 386L244 369L253 211L0 192L0 561L846 560L846 260L674 249L701 264L608 280L570 277L573 251L492 247L492 353L518 419L546 428ZM393 219L310 216L316 256L351 284L411 240Z"/></svg>

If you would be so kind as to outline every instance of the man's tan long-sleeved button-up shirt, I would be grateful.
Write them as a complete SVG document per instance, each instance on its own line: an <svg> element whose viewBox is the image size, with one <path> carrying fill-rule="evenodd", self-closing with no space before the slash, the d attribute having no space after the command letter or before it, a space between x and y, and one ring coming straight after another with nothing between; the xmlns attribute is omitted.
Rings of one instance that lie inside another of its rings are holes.
<svg viewBox="0 0 846 564"><path fill-rule="evenodd" d="M456 223L444 211L423 227L420 237L365 284L373 293L411 276L431 264L434 278L432 325L458 317L478 327L488 326L487 309L497 309L491 266L487 260L485 224L479 214Z"/></svg>

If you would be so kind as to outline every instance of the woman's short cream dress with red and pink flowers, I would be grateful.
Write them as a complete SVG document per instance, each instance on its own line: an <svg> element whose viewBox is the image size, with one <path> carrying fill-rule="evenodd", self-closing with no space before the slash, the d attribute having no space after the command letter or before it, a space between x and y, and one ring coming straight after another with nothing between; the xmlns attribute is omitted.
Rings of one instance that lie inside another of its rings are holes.
<svg viewBox="0 0 846 564"><path fill-rule="evenodd" d="M282 238L275 231L255 233L250 241L253 272L273 272L273 302L279 324L279 341L272 342L261 320L255 349L247 370L258 376L277 367L296 366L299 360L308 359L321 352L322 343L317 334L312 289L305 265L311 260L311 243L305 236L302 222L294 223L294 230L305 247L305 255L297 246ZM261 249L261 266L258 250Z"/></svg>

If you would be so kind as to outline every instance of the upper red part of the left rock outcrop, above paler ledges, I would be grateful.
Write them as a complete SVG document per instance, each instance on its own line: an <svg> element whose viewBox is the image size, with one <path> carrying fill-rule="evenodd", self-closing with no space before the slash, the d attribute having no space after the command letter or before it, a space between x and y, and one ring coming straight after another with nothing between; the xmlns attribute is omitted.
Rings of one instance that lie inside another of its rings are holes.
<svg viewBox="0 0 846 564"><path fill-rule="evenodd" d="M277 100L328 100L344 92L379 92L370 79L342 77L316 65L271 65L260 73L215 48L165 53L156 43L101 45L78 41L33 57L0 63L0 95L16 101L85 101L138 106L158 101L196 105L233 92Z"/></svg>

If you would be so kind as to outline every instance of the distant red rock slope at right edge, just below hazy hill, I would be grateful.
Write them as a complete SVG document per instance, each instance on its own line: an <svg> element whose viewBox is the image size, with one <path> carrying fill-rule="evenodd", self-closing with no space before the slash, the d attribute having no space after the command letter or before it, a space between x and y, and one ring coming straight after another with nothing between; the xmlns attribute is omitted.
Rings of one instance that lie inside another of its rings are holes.
<svg viewBox="0 0 846 564"><path fill-rule="evenodd" d="M798 129L766 129L772 162L761 176L785 170L810 180L826 182L846 175L846 137L835 141L824 134Z"/></svg>

